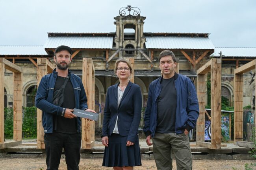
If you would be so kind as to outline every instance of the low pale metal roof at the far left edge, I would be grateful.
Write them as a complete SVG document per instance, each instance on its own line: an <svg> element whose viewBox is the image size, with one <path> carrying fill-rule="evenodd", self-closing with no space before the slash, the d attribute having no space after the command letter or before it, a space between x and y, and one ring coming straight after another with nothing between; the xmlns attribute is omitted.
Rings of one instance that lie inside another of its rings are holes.
<svg viewBox="0 0 256 170"><path fill-rule="evenodd" d="M43 46L0 46L0 55L48 55Z"/></svg>

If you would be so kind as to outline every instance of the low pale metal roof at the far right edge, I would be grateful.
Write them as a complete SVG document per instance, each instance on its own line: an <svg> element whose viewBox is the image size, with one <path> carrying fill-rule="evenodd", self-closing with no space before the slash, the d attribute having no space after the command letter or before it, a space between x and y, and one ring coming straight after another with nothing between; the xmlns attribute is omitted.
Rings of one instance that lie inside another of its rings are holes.
<svg viewBox="0 0 256 170"><path fill-rule="evenodd" d="M216 47L211 56L219 57L256 57L256 48L220 48Z"/></svg>

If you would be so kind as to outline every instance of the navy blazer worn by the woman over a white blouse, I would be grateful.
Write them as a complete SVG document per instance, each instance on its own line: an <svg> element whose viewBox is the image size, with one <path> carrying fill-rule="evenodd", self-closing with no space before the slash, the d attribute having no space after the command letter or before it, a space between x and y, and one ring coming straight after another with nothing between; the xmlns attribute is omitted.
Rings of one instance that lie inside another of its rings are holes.
<svg viewBox="0 0 256 170"><path fill-rule="evenodd" d="M127 136L127 141L135 143L141 121L141 88L129 81L117 109L118 85L119 83L110 86L107 91L102 137L111 135L119 115L117 120L119 135Z"/></svg>

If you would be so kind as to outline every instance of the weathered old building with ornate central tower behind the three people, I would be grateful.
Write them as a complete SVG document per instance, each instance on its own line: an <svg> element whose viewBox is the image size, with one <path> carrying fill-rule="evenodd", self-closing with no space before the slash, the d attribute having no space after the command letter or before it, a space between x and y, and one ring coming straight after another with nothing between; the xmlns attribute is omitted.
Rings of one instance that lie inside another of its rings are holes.
<svg viewBox="0 0 256 170"><path fill-rule="evenodd" d="M134 10L132 7L127 7L127 9ZM144 32L146 17L141 16L137 9L128 14L127 9L120 9L119 15L114 17L116 30L112 33L48 33L44 46L0 46L0 57L22 68L23 106L33 106L37 88L37 58L45 57L54 63L54 50L59 45L72 48L72 62L69 69L77 75L82 76L82 59L84 57L93 59L95 110L100 113L99 120L95 122L96 134L100 134L102 127L106 91L109 86L118 82L113 72L115 61L118 58L134 58L135 60L134 83L141 87L142 110L147 103L150 82L161 75L158 55L162 50L173 51L178 60L176 71L196 82L196 70L213 57L215 50L209 34ZM214 57L219 56L214 55ZM241 60L239 65L245 62L247 61ZM230 99L231 104L235 67L233 62L225 60L222 69L223 95ZM6 71L4 81L5 107L12 107L11 72ZM251 98L247 85L244 95L246 101ZM143 126L143 121L141 121L141 126Z"/></svg>

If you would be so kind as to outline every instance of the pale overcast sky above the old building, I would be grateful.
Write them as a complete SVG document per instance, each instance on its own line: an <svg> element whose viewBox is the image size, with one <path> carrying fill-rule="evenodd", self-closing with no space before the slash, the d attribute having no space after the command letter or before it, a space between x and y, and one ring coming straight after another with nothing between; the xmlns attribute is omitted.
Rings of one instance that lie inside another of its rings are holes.
<svg viewBox="0 0 256 170"><path fill-rule="evenodd" d="M44 45L48 32L115 32L126 5L144 32L210 33L215 47L256 47L256 0L0 0L0 45Z"/></svg>

